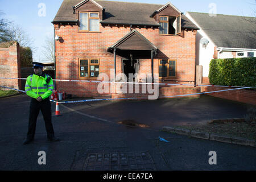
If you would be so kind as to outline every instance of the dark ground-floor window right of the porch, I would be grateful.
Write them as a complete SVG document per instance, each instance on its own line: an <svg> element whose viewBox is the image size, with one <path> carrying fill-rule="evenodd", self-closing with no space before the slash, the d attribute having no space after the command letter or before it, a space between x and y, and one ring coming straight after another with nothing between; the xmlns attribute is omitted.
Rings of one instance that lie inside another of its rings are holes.
<svg viewBox="0 0 256 182"><path fill-rule="evenodd" d="M176 60L159 60L159 77L176 77Z"/></svg>

